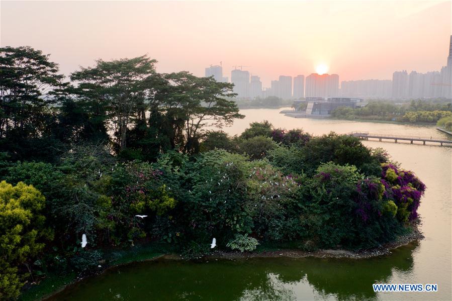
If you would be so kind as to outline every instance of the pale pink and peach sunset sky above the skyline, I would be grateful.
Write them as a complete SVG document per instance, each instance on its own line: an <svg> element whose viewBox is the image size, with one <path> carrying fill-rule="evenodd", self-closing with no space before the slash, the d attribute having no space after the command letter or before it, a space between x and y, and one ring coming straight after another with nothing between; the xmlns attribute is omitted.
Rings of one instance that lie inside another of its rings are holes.
<svg viewBox="0 0 452 301"><path fill-rule="evenodd" d="M1 1L0 46L51 54L69 75L96 59L147 54L158 72L204 76L236 65L260 76L391 79L446 64L451 1Z"/></svg>

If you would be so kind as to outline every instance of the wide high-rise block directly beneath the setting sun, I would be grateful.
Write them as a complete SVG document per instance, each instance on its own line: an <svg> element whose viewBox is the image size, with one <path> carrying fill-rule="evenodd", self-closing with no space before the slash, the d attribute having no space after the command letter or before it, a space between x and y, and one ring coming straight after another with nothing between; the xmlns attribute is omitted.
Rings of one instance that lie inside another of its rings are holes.
<svg viewBox="0 0 452 301"><path fill-rule="evenodd" d="M312 73L306 77L306 97L339 96L339 75Z"/></svg>

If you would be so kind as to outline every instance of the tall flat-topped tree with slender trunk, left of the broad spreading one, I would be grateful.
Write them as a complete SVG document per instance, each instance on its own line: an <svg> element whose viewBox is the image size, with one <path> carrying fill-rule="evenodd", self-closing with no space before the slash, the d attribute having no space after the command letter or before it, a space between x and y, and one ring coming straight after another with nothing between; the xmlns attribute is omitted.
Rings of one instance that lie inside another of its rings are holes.
<svg viewBox="0 0 452 301"><path fill-rule="evenodd" d="M127 130L133 118L142 118L140 113L152 89L148 83L155 75L156 62L146 55L108 62L98 60L95 67L81 68L71 74L71 80L78 82L76 93L80 97L106 107L117 151L127 146Z"/></svg>

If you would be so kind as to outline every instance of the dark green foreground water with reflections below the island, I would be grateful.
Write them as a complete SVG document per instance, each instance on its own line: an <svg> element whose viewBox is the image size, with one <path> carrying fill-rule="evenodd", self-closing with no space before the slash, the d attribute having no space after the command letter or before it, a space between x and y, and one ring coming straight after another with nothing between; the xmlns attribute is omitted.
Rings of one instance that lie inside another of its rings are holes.
<svg viewBox="0 0 452 301"><path fill-rule="evenodd" d="M394 270L411 273L415 248L417 245L409 245L390 256L366 260L261 258L136 263L86 279L51 299L376 299L372 284L390 282Z"/></svg>

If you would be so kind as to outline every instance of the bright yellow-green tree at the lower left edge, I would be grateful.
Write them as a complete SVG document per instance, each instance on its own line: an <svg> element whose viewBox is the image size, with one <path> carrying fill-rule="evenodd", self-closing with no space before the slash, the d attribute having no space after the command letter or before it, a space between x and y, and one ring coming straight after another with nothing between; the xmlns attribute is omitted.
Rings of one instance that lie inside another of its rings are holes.
<svg viewBox="0 0 452 301"><path fill-rule="evenodd" d="M15 298L25 278L19 268L25 265L31 276L31 260L53 238L41 214L45 198L36 188L19 182L0 182L0 298Z"/></svg>

